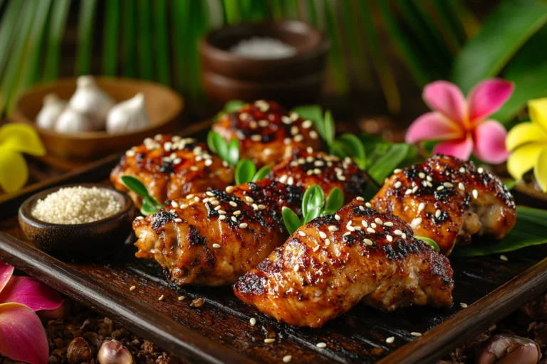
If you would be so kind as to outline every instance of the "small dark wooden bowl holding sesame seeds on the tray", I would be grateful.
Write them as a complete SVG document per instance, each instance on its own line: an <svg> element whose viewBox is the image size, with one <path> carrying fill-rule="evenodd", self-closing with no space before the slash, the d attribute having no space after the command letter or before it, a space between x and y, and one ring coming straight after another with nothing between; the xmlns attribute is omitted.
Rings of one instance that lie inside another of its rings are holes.
<svg viewBox="0 0 547 364"><path fill-rule="evenodd" d="M74 225L46 223L32 216L31 211L38 199L46 198L59 188L73 186L95 186L108 190L122 208L109 218ZM26 199L19 208L19 225L36 247L52 255L74 259L103 255L123 245L131 232L134 217L135 205L131 198L126 193L101 183L70 184L50 188Z"/></svg>

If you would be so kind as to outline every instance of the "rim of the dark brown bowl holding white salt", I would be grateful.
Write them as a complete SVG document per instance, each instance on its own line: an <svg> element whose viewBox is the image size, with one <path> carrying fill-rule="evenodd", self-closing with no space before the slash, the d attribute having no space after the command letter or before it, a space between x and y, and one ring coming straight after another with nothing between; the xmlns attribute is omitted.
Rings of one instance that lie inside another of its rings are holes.
<svg viewBox="0 0 547 364"><path fill-rule="evenodd" d="M244 57L241 55L236 55L234 53L231 53L229 50L218 48L216 45L214 45L211 42L211 38L213 36L216 36L217 34L222 33L229 28L246 28L246 27L263 28L263 27L269 27L269 26L271 27L271 26L282 26L282 25L286 25L288 27L303 26L306 28L306 32L316 33L319 38L318 45L316 45L316 47L312 48L311 50L308 50L307 52L304 52L304 53L297 52L295 55L291 55L289 57L249 58L249 57ZM235 25L223 26L222 28L213 29L212 31L209 31L208 33L204 34L204 36L202 36L199 39L199 53L201 53L207 58L210 58L211 60L214 60L216 62L222 62L222 63L254 63L254 64L259 64L264 66L284 65L286 63L296 63L296 62L306 62L307 60L311 58L316 58L322 55L323 53L328 53L329 48L330 48L330 41L328 40L327 36L325 35L323 31L311 26L310 24L304 21L298 21L298 20L237 23Z"/></svg>

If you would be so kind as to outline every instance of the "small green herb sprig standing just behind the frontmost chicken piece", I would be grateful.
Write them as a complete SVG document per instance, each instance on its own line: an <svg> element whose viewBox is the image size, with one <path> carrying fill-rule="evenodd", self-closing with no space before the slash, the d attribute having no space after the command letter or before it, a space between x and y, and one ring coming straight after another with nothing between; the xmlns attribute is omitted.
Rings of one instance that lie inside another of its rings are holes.
<svg viewBox="0 0 547 364"><path fill-rule="evenodd" d="M304 192L302 198L302 216L299 218L296 213L288 207L283 207L283 223L289 234L293 234L303 224L309 223L311 220L319 216L332 215L340 210L344 204L344 193L340 188L333 188L325 200L325 193L318 185L310 186Z"/></svg>

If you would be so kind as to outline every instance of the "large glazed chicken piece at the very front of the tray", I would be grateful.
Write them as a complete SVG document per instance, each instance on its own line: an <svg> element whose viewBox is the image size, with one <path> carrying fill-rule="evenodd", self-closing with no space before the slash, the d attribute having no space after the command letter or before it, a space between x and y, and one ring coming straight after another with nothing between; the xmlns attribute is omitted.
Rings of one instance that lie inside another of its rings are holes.
<svg viewBox="0 0 547 364"><path fill-rule="evenodd" d="M363 299L387 311L452 305L452 268L400 218L362 198L298 229L234 285L236 296L294 326L320 327Z"/></svg>

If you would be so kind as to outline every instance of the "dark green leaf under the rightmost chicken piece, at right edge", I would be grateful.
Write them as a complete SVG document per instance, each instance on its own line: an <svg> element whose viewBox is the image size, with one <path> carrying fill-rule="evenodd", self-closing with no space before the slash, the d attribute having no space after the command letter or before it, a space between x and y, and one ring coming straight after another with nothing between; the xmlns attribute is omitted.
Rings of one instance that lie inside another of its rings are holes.
<svg viewBox="0 0 547 364"><path fill-rule="evenodd" d="M517 206L516 224L500 242L474 241L469 245L456 245L452 255L479 257L481 255L512 252L523 247L547 243L547 210Z"/></svg>

